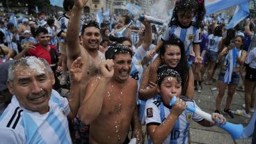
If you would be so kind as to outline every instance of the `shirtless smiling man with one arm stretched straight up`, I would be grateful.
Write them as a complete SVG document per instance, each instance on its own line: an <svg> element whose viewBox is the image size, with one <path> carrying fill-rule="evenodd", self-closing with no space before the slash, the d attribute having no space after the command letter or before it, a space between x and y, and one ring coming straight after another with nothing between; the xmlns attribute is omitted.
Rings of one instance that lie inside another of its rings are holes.
<svg viewBox="0 0 256 144"><path fill-rule="evenodd" d="M80 106L85 95L86 85L91 77L99 72L99 63L105 60L104 54L98 51L102 35L100 34L99 24L97 22L88 22L83 25L81 31L81 45L79 39L80 16L83 6L88 0L75 0L70 21L67 26L67 67L70 69L71 63L81 56L83 61L83 77L79 83ZM75 141L77 143L88 143L88 126L81 123L79 118L72 122ZM83 130L81 130L83 129Z"/></svg>

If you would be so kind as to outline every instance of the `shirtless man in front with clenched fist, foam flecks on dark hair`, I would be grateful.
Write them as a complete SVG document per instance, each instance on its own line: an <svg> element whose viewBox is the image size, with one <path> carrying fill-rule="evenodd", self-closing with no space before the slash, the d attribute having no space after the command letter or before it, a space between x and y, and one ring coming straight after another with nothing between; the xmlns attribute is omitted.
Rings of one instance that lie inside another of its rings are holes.
<svg viewBox="0 0 256 144"><path fill-rule="evenodd" d="M127 134L135 120L132 137L141 143L141 125L136 109L135 79L131 72L132 52L124 45L109 47L100 75L90 80L79 108L83 123L90 124L90 143L127 143ZM137 115L137 117L134 117Z"/></svg>

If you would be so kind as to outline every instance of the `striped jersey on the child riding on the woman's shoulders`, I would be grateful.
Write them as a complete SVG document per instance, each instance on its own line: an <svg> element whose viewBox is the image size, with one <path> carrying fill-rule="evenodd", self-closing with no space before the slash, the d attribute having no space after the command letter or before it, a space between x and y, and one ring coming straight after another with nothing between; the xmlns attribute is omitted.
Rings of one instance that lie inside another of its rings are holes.
<svg viewBox="0 0 256 144"><path fill-rule="evenodd" d="M200 44L201 35L200 29L195 25L195 22L191 22L189 26L181 26L178 22L172 22L166 27L166 33L161 40L166 41L172 34L175 34L177 38L184 42L184 50L186 56L189 56L193 51L193 44Z"/></svg>

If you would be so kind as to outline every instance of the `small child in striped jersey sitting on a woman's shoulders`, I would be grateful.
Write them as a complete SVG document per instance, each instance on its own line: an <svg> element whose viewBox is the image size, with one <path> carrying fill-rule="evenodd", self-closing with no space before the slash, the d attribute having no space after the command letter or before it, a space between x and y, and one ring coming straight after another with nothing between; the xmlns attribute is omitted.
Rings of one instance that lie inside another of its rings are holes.
<svg viewBox="0 0 256 144"><path fill-rule="evenodd" d="M200 57L200 26L205 16L205 2L196 0L179 0L175 3L173 17L166 28L166 33L157 44L157 47L151 52L151 56L158 51L163 42L170 38L171 34L184 42L186 56L195 56L195 62L202 61ZM193 52L195 49L195 53Z"/></svg>

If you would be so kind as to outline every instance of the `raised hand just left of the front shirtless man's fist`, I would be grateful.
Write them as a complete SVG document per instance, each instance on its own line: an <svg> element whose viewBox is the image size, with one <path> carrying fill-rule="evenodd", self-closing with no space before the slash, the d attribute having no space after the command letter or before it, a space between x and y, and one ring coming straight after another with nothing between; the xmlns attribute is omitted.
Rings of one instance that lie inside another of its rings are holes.
<svg viewBox="0 0 256 144"><path fill-rule="evenodd" d="M80 83L82 79L82 67L83 62L81 61L81 57L78 57L73 63L71 64L70 68L70 79L71 83Z"/></svg>

